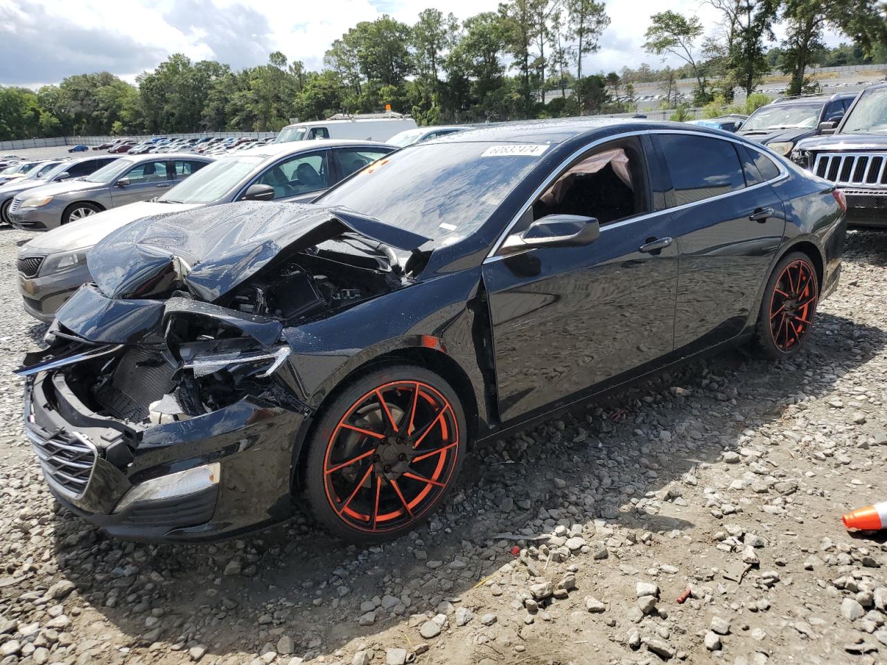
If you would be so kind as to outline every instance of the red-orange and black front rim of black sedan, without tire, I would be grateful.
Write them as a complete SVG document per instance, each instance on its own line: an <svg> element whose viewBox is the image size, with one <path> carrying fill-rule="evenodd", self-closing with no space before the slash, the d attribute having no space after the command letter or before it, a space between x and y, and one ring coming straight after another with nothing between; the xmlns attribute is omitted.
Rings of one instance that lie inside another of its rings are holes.
<svg viewBox="0 0 887 665"><path fill-rule="evenodd" d="M451 481L459 426L451 403L421 381L373 388L334 427L324 457L326 500L350 528L402 528Z"/></svg>

